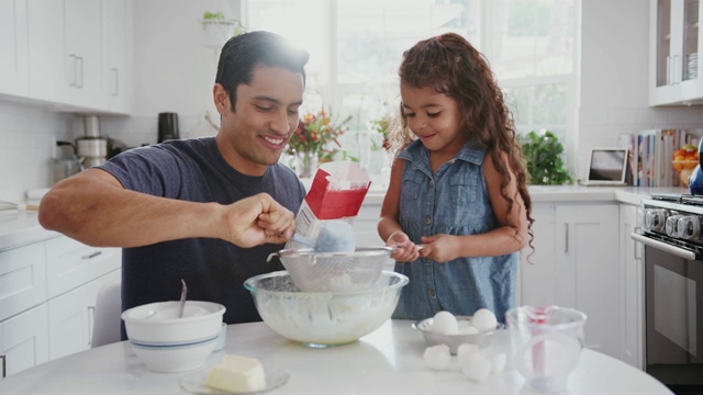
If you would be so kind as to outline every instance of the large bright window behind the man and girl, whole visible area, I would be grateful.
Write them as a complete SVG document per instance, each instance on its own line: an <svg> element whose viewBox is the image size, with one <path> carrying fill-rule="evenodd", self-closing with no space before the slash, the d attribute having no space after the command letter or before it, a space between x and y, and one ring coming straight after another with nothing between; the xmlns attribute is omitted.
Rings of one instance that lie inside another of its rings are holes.
<svg viewBox="0 0 703 395"><path fill-rule="evenodd" d="M245 26L282 34L311 54L303 112L352 114L343 148L381 169L370 121L399 104L398 66L420 40L456 32L489 59L518 132L560 139L574 106L576 0L245 0ZM488 33L487 33L488 32Z"/></svg>

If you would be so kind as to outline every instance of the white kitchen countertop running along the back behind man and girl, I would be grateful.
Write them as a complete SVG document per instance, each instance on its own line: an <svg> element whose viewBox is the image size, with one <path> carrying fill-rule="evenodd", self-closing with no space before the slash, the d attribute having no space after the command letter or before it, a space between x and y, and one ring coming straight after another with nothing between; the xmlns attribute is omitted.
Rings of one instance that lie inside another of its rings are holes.
<svg viewBox="0 0 703 395"><path fill-rule="evenodd" d="M582 187L558 185L529 187L533 203L536 202L618 202L639 204L643 198L651 193L688 193L685 188L636 188L636 187ZM380 188L371 188L364 201L365 204L380 205L384 192ZM37 221L35 212L2 211L0 212L0 251L21 247L32 242L58 237L59 234L44 229Z"/></svg>

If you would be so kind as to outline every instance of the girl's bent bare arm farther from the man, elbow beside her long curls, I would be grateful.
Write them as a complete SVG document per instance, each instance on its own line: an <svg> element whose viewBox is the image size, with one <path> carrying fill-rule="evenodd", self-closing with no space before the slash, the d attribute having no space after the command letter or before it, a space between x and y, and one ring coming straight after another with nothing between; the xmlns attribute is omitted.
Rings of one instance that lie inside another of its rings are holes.
<svg viewBox="0 0 703 395"><path fill-rule="evenodd" d="M507 158L501 156L507 167ZM500 227L480 235L435 235L423 237L425 248L422 257L437 262L446 262L459 257L494 257L520 251L527 244L527 214L525 203L517 192L515 176L509 170L507 195L513 199L513 206L507 212L509 202L501 195L501 180L490 155L483 158L483 176L488 187L491 206L495 213ZM469 207L470 210L470 207Z"/></svg>

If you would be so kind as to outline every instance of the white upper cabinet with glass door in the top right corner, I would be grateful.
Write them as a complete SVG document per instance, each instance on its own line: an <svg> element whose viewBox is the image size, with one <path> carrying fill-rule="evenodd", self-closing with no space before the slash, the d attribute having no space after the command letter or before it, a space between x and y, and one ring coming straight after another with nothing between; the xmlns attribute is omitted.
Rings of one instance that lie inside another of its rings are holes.
<svg viewBox="0 0 703 395"><path fill-rule="evenodd" d="M703 104L700 0L650 0L649 104Z"/></svg>

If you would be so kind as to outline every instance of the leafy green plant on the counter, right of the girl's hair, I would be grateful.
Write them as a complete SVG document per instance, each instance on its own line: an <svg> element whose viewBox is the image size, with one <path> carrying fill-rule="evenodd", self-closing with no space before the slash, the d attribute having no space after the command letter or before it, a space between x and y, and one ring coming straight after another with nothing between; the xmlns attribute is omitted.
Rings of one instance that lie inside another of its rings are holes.
<svg viewBox="0 0 703 395"><path fill-rule="evenodd" d="M563 146L554 133L531 131L517 138L523 149L531 184L562 185L573 181L561 160Z"/></svg>

